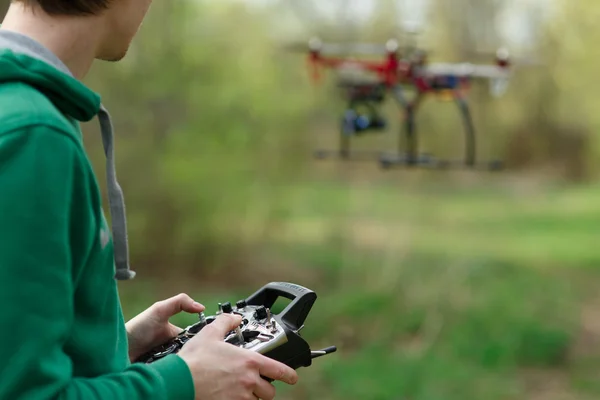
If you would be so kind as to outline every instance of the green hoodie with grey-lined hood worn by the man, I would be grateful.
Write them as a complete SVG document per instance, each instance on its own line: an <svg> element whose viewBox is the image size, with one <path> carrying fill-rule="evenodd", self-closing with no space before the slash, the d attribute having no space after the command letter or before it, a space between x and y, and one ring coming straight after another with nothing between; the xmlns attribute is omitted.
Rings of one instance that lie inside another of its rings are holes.
<svg viewBox="0 0 600 400"><path fill-rule="evenodd" d="M95 116L113 235L79 127ZM0 399L194 398L180 357L129 362L115 278L134 274L112 154L100 97L0 30Z"/></svg>

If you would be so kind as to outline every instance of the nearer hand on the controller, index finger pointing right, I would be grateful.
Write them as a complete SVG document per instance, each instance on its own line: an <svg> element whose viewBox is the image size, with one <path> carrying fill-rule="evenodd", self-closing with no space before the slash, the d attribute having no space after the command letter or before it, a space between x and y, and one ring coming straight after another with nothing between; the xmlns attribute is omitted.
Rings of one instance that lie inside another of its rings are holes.
<svg viewBox="0 0 600 400"><path fill-rule="evenodd" d="M261 377L296 384L287 365L226 343L225 335L240 325L236 314L221 314L179 351L194 379L196 400L273 400L275 387Z"/></svg>

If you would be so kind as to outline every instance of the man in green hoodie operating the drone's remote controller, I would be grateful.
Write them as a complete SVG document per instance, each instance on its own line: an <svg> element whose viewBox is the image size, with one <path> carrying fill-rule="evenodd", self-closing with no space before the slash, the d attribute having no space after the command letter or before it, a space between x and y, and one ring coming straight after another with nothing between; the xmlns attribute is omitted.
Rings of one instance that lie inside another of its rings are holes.
<svg viewBox="0 0 600 400"><path fill-rule="evenodd" d="M112 124L81 83L95 59L122 59L151 0L14 0L0 27L0 398L270 400L262 376L293 369L223 341L223 315L178 355L136 357L204 307L182 294L127 324L116 279L129 269ZM79 122L98 117L112 235Z"/></svg>

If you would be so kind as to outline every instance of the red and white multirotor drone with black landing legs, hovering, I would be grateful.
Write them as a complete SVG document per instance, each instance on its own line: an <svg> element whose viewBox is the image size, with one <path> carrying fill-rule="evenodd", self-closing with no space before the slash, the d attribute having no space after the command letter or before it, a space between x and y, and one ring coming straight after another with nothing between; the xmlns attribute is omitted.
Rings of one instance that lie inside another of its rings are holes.
<svg viewBox="0 0 600 400"><path fill-rule="evenodd" d="M290 46L288 46L290 48ZM293 46L298 49L298 46ZM307 52L307 63L313 82L321 80L323 69L338 72L337 85L343 90L347 107L341 121L339 149L317 151L320 159L336 157L343 160L364 159L364 153L352 151L351 138L366 133L381 132L385 119L377 107L388 95L393 97L404 114L403 132L406 151L399 144L397 154L377 153L384 169L394 166L423 166L449 168L464 166L469 169L485 168L499 170L502 162L492 160L478 162L476 159L475 128L466 100L474 80L490 81L490 91L499 97L507 89L513 72L509 51L500 48L493 63L429 63L426 51L416 47L400 52L397 40L385 44L336 44L324 43L312 38L300 47ZM362 55L379 55L379 60L365 60L344 56L352 52ZM405 96L405 88L415 92L412 99ZM441 160L429 154L419 153L415 116L428 95L449 96L457 104L465 130L465 153L462 160ZM361 110L364 109L364 110ZM371 158L372 154L367 154Z"/></svg>

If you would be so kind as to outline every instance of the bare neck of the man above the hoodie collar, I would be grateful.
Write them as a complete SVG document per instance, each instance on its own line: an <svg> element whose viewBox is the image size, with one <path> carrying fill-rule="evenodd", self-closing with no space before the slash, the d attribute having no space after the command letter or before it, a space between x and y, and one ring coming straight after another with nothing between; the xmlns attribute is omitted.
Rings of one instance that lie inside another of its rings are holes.
<svg viewBox="0 0 600 400"><path fill-rule="evenodd" d="M41 9L11 4L2 27L28 36L54 53L77 79L83 79L96 58L103 24L97 17L54 17Z"/></svg>

